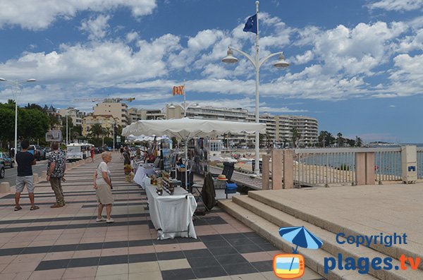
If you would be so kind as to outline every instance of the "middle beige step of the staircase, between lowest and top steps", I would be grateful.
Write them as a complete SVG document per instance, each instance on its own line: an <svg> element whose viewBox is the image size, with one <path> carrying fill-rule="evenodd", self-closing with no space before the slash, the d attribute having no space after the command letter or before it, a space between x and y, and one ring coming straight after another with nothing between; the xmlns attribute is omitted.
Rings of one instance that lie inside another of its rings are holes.
<svg viewBox="0 0 423 280"><path fill-rule="evenodd" d="M350 244L338 244L336 242L336 233L332 233L331 231L326 231L326 229L322 229L319 226L315 226L314 224L310 224L307 221L303 221L302 219L295 218L290 214L285 212L281 212L278 209L270 207L269 205L265 205L262 202L252 199L246 195L233 197L233 202L235 204L244 207L245 209L249 210L257 214L259 217L270 221L272 224L275 224L278 227L286 227L286 226L305 226L309 231L314 233L316 236L319 236L323 241L322 249L326 252L329 252L331 255L338 256L338 254L342 254L343 260L346 257L353 257L357 261L360 257L369 257L372 260L374 257L380 257L381 260L384 260L387 255L373 250L371 248L367 248L365 246L356 247L355 245ZM281 238L278 236L278 238ZM345 239L343 238L345 241ZM393 259L392 262L393 267L400 267L400 262L398 260ZM369 274L375 276L378 279L423 279L423 271L417 269L413 271L410 266L406 266L407 270L373 270L369 269ZM405 277L405 278L404 278Z"/></svg>

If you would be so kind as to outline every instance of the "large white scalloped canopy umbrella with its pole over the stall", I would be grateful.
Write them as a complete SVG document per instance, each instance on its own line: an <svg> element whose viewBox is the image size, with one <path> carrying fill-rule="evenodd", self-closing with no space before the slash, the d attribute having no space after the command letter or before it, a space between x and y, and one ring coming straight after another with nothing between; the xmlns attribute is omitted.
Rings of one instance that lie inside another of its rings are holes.
<svg viewBox="0 0 423 280"><path fill-rule="evenodd" d="M264 123L243 123L238 121L216 121L196 118L137 121L126 126L122 135L168 135L185 140L185 159L188 159L188 140L191 138L214 137L225 133L266 133ZM188 186L185 169L185 188Z"/></svg>

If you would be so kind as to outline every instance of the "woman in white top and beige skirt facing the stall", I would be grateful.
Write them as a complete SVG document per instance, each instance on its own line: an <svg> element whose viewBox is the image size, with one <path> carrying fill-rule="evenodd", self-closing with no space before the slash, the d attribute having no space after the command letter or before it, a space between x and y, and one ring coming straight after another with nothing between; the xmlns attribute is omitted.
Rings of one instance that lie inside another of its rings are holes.
<svg viewBox="0 0 423 280"><path fill-rule="evenodd" d="M114 198L111 195L111 177L110 170L107 164L111 162L111 152L102 153L103 161L100 162L97 170L94 172L94 188L97 200L99 202L98 214L96 221L106 221L106 223L113 223L111 219L111 204L114 202ZM107 219L102 217L103 207L106 205Z"/></svg>

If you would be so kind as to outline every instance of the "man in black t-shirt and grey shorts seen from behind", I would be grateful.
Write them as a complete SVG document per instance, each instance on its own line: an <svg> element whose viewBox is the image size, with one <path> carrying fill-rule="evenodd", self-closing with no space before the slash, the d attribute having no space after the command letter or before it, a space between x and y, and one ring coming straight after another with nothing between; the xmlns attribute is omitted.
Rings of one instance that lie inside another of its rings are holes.
<svg viewBox="0 0 423 280"><path fill-rule="evenodd" d="M34 204L34 175L32 174L32 165L37 164L34 154L27 151L30 147L28 140L20 142L22 151L16 154L16 162L18 163L18 176L16 176L16 193L15 193L15 211L22 209L19 205L20 193L23 188L27 187L28 196L30 197L31 208L30 210L37 210L39 207Z"/></svg>

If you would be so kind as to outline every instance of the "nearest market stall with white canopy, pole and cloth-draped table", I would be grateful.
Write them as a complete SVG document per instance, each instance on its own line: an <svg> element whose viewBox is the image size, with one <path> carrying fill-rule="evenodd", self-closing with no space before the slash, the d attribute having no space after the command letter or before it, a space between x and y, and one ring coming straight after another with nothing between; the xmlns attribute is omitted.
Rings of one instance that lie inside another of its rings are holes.
<svg viewBox="0 0 423 280"><path fill-rule="evenodd" d="M188 140L193 138L214 137L224 133L265 133L264 123L241 123L234 121L211 121L204 119L180 118L171 120L137 121L123 128L122 135L136 138L140 135L168 135L183 140L185 146L185 189L180 188L180 181L176 176L171 178L169 165L162 164L165 170L157 169L157 164L142 164L136 171L134 180L145 188L149 204L149 212L154 228L157 229L158 238L173 238L184 236L196 238L192 224L192 214L197 207L195 198L190 193L188 186ZM163 145L162 145L163 146ZM173 164L174 157L166 147L166 156ZM177 151L173 152L177 154ZM164 156L164 154L161 154ZM164 161L165 162L165 161ZM172 166L170 165L170 168ZM157 180L154 173L157 173ZM177 173L177 172L176 172ZM149 176L149 174L151 174ZM161 174L161 175L160 175ZM155 185L154 185L155 184ZM168 188L166 188L166 185Z"/></svg>

